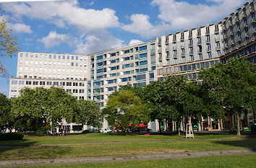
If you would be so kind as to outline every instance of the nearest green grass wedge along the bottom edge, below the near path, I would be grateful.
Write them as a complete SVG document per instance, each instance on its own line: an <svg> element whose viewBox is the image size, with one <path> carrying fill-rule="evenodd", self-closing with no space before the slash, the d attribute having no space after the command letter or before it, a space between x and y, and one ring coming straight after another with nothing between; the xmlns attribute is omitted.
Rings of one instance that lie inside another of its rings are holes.
<svg viewBox="0 0 256 168"><path fill-rule="evenodd" d="M189 159L167 159L167 160L150 160L134 162L114 162L114 163L97 163L97 164L74 164L47 167L255 167L256 154L236 155L236 156L210 156Z"/></svg>

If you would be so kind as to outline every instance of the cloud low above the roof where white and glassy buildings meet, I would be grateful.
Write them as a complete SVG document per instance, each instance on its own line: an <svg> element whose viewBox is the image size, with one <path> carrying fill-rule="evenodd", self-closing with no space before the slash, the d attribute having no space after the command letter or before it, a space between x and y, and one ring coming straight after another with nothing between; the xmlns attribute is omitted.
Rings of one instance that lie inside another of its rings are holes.
<svg viewBox="0 0 256 168"><path fill-rule="evenodd" d="M84 42L85 41L85 42ZM87 35L84 40L77 44L77 54L95 53L109 48L117 48L123 45L124 41L113 37L109 32L102 31L95 35Z"/></svg>

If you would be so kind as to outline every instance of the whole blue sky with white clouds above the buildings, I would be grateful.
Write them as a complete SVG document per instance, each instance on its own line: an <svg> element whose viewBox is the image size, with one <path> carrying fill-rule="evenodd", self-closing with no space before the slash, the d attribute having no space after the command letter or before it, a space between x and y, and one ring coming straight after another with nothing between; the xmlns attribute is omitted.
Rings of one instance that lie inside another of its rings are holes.
<svg viewBox="0 0 256 168"><path fill-rule="evenodd" d="M87 55L154 39L171 32L218 23L244 0L0 0L20 51ZM8 95L17 56L0 57L9 77L0 78Z"/></svg>

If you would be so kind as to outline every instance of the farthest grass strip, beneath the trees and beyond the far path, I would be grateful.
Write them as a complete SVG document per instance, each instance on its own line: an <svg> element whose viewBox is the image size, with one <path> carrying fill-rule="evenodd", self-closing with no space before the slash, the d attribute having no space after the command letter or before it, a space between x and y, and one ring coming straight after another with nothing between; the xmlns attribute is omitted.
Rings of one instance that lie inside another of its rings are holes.
<svg viewBox="0 0 256 168"><path fill-rule="evenodd" d="M195 134L195 138L236 138L236 135L207 135ZM248 137L248 136L241 136ZM252 136L256 137L256 136ZM87 133L73 134L68 136L24 136L22 140L0 141L0 145L5 144L38 144L38 143L89 143L89 142L124 142L124 141L164 141L184 139L184 134L178 137L176 134L165 135L126 135L115 133Z"/></svg>

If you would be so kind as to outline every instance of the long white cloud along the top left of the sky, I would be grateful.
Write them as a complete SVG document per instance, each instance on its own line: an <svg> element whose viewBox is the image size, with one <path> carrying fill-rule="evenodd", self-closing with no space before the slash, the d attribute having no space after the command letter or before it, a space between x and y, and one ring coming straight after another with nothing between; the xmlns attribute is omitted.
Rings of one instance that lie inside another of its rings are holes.
<svg viewBox="0 0 256 168"><path fill-rule="evenodd" d="M4 9L14 14L44 19L59 27L68 24L86 30L95 30L119 26L118 17L113 9L84 9L80 8L77 0L7 3L4 4Z"/></svg>

